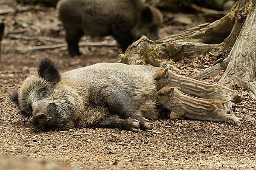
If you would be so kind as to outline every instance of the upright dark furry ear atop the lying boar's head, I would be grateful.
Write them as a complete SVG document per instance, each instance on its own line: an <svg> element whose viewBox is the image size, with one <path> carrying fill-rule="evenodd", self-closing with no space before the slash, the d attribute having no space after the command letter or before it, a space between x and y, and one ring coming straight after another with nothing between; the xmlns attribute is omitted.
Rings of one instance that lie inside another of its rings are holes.
<svg viewBox="0 0 256 170"><path fill-rule="evenodd" d="M61 74L55 67L54 62L51 59L44 58L41 60L38 67L38 75L48 82L58 83L61 81Z"/></svg>

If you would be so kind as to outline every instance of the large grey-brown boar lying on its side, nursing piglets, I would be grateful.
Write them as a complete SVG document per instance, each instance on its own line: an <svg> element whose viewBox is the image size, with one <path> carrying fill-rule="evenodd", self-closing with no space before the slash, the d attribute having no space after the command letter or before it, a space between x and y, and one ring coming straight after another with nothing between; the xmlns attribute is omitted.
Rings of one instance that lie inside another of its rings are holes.
<svg viewBox="0 0 256 170"><path fill-rule="evenodd" d="M156 119L153 75L158 68L98 63L60 73L42 59L38 75L27 77L18 104L38 128L121 127L138 132Z"/></svg>

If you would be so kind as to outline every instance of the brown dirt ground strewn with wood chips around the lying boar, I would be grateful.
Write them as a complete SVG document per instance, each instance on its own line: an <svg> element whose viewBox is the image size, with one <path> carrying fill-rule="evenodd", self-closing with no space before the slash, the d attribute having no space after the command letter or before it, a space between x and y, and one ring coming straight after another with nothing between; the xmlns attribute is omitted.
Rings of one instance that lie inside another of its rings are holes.
<svg viewBox="0 0 256 170"><path fill-rule="evenodd" d="M0 0L6 4L6 0ZM9 8L7 6L3 7ZM161 37L204 23L200 15L189 15L192 24L170 22ZM172 16L174 16L172 14ZM54 159L74 169L256 169L256 112L237 108L236 115L243 118L237 127L233 122L203 122L195 120L151 120L153 130L132 133L120 129L83 128L69 131L35 129L31 118L24 118L11 101L28 75L36 72L44 57L54 60L61 71L84 67L97 62L117 62L121 52L118 46L81 47L80 57L68 56L67 48L20 52L20 47L51 45L64 42L64 31L52 10L29 10L6 14L6 35L2 42L0 62L0 153L11 156ZM38 36L33 40L22 36ZM50 37L44 38L44 37ZM25 40L24 40L25 39ZM105 42L113 42L110 37ZM89 37L83 41L94 42ZM215 55L184 59L174 65L181 74L190 75L212 65ZM218 82L219 77L206 81ZM237 88L243 100L237 105L256 108L244 89ZM78 134L81 133L81 134Z"/></svg>

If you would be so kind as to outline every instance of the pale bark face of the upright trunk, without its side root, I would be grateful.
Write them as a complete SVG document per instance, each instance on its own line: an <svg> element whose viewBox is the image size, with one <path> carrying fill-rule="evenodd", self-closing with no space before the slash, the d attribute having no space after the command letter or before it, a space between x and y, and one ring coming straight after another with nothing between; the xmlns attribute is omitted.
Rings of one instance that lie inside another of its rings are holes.
<svg viewBox="0 0 256 170"><path fill-rule="evenodd" d="M230 62L219 81L220 85L236 84L245 87L248 82L256 81L256 10L248 15L250 16L247 17L239 37L230 51Z"/></svg>

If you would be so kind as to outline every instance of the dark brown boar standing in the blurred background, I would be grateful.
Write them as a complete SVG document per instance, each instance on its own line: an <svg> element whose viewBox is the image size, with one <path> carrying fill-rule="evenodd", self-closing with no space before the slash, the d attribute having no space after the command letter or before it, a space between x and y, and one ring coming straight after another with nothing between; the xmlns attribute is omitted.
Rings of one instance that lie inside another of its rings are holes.
<svg viewBox="0 0 256 170"><path fill-rule="evenodd" d="M71 56L81 55L78 42L83 35L112 35L125 52L142 35L157 40L163 23L161 12L141 0L60 0L57 8Z"/></svg>

